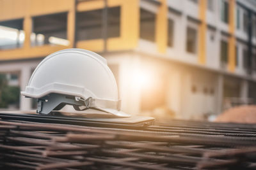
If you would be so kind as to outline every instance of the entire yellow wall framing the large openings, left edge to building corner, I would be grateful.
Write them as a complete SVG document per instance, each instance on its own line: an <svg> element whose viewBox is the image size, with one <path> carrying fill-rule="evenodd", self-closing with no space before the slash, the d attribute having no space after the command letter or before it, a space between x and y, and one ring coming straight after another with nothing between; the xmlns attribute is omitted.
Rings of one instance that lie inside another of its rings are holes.
<svg viewBox="0 0 256 170"><path fill-rule="evenodd" d="M75 16L77 11L95 10L104 7L103 0L81 1L75 6L74 0L0 0L0 21L24 18L26 38L22 48L0 50L0 60L45 57L57 50L75 46ZM120 37L108 39L108 50L127 50L135 48L139 35L139 0L108 0L108 6L120 6ZM51 13L67 12L67 39L69 46L30 46L32 17ZM77 48L85 48L95 52L104 49L103 39L76 42Z"/></svg>

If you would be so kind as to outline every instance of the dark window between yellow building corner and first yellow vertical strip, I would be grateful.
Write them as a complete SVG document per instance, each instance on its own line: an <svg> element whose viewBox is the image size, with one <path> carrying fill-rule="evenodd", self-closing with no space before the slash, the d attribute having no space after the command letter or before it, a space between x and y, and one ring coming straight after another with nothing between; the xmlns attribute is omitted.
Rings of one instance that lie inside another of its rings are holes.
<svg viewBox="0 0 256 170"><path fill-rule="evenodd" d="M155 41L156 14L140 9L140 38Z"/></svg>

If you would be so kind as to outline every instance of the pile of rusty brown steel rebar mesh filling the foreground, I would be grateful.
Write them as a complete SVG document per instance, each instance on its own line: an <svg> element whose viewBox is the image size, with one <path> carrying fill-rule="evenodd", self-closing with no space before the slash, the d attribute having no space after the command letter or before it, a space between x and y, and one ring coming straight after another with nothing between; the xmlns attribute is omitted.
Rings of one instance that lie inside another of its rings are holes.
<svg viewBox="0 0 256 170"><path fill-rule="evenodd" d="M0 118L0 169L256 168L252 124L172 120L99 127L74 125L74 118L58 124L48 122L52 117Z"/></svg>

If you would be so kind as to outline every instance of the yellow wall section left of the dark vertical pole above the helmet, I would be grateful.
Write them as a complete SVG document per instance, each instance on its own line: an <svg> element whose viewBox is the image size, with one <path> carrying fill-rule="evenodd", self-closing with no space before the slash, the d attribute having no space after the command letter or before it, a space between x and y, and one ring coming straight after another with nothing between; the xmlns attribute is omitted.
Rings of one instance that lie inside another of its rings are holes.
<svg viewBox="0 0 256 170"><path fill-rule="evenodd" d="M25 40L22 48L0 50L0 60L28 59L45 57L52 52L72 48L74 42L74 0L0 0L0 21L23 18ZM51 13L68 12L67 38L70 46L43 45L31 46L32 17Z"/></svg>

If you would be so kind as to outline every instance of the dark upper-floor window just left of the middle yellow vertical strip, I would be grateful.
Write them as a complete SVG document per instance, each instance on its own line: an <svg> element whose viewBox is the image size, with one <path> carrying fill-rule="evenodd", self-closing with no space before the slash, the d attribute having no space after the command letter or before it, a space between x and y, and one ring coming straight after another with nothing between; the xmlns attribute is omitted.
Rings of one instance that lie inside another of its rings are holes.
<svg viewBox="0 0 256 170"><path fill-rule="evenodd" d="M186 50L189 53L196 53L196 39L197 39L196 29L191 27L187 28L187 41L186 41Z"/></svg>

